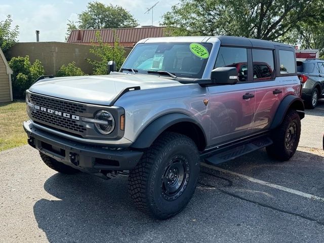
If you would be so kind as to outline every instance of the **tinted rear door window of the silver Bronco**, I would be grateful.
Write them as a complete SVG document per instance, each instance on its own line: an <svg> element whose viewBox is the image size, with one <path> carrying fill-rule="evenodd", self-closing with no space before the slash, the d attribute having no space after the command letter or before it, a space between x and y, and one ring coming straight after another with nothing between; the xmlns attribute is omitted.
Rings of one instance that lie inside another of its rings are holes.
<svg viewBox="0 0 324 243"><path fill-rule="evenodd" d="M273 51L252 49L253 79L269 80L274 71Z"/></svg>

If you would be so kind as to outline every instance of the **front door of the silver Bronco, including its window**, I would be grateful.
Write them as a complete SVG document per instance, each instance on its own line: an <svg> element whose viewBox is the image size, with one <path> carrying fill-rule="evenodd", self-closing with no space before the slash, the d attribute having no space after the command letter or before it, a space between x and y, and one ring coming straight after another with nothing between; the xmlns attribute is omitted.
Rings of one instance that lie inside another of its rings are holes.
<svg viewBox="0 0 324 243"><path fill-rule="evenodd" d="M238 83L211 86L211 145L232 141L250 133L255 109L254 83L248 81L248 49L220 47L217 67L236 67Z"/></svg>

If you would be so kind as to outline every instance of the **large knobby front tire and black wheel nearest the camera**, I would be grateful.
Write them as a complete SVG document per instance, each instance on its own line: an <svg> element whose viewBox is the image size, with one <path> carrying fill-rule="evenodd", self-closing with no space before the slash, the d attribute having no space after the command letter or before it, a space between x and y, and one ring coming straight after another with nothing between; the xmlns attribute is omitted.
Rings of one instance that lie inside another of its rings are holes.
<svg viewBox="0 0 324 243"><path fill-rule="evenodd" d="M199 166L198 149L190 138L163 133L130 171L129 191L135 205L157 219L178 214L196 188Z"/></svg>

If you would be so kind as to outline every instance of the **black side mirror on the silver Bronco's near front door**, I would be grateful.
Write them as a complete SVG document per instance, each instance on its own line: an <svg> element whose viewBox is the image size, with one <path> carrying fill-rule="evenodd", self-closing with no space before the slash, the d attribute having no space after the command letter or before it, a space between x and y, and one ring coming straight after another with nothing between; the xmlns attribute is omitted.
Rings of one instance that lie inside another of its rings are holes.
<svg viewBox="0 0 324 243"><path fill-rule="evenodd" d="M236 67L218 67L212 70L211 79L216 85L235 85L237 83Z"/></svg>

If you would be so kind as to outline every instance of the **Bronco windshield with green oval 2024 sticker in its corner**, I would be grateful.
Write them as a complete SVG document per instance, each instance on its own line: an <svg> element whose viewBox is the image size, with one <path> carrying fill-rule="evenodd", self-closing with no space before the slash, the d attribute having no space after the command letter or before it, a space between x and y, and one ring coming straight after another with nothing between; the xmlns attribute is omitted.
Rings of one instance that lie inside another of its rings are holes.
<svg viewBox="0 0 324 243"><path fill-rule="evenodd" d="M148 74L147 71L167 71L177 77L201 78L211 49L209 43L138 44L123 68L144 74Z"/></svg>

